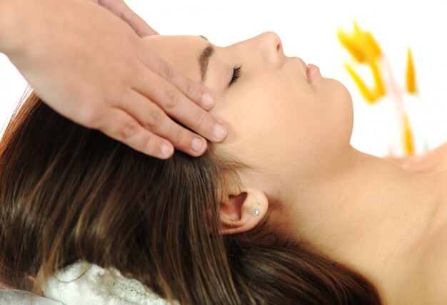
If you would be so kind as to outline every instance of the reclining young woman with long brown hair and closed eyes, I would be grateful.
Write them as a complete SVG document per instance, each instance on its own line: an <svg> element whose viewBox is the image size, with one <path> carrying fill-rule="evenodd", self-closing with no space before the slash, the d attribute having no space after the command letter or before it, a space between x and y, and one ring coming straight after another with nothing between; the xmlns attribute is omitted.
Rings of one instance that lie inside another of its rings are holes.
<svg viewBox="0 0 447 305"><path fill-rule="evenodd" d="M85 261L180 304L447 298L445 154L398 166L352 148L346 88L284 56L275 33L146 43L214 91L226 140L156 160L31 94L0 143L5 279L34 276L39 292Z"/></svg>

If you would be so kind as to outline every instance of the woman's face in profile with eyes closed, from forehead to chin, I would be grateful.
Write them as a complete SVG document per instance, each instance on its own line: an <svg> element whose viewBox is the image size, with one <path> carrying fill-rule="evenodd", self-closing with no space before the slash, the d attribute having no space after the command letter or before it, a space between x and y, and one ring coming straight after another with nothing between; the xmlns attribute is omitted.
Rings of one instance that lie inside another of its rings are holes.
<svg viewBox="0 0 447 305"><path fill-rule="evenodd" d="M215 145L218 152L225 149L263 173L311 175L349 145L351 95L320 73L308 83L306 64L284 56L275 33L224 48L199 36L149 36L145 41L194 81L205 76L204 86L216 97L211 113L228 125L226 140ZM209 46L214 51L207 49L212 54L205 74L200 58Z"/></svg>

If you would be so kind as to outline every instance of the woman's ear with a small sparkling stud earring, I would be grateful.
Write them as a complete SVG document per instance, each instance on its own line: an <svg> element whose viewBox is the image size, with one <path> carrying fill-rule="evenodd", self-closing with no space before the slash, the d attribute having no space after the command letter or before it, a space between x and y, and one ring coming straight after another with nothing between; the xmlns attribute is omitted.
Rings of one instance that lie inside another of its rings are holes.
<svg viewBox="0 0 447 305"><path fill-rule="evenodd" d="M253 229L266 217L268 200L257 189L246 190L236 195L228 195L221 202L221 234L235 234Z"/></svg>

